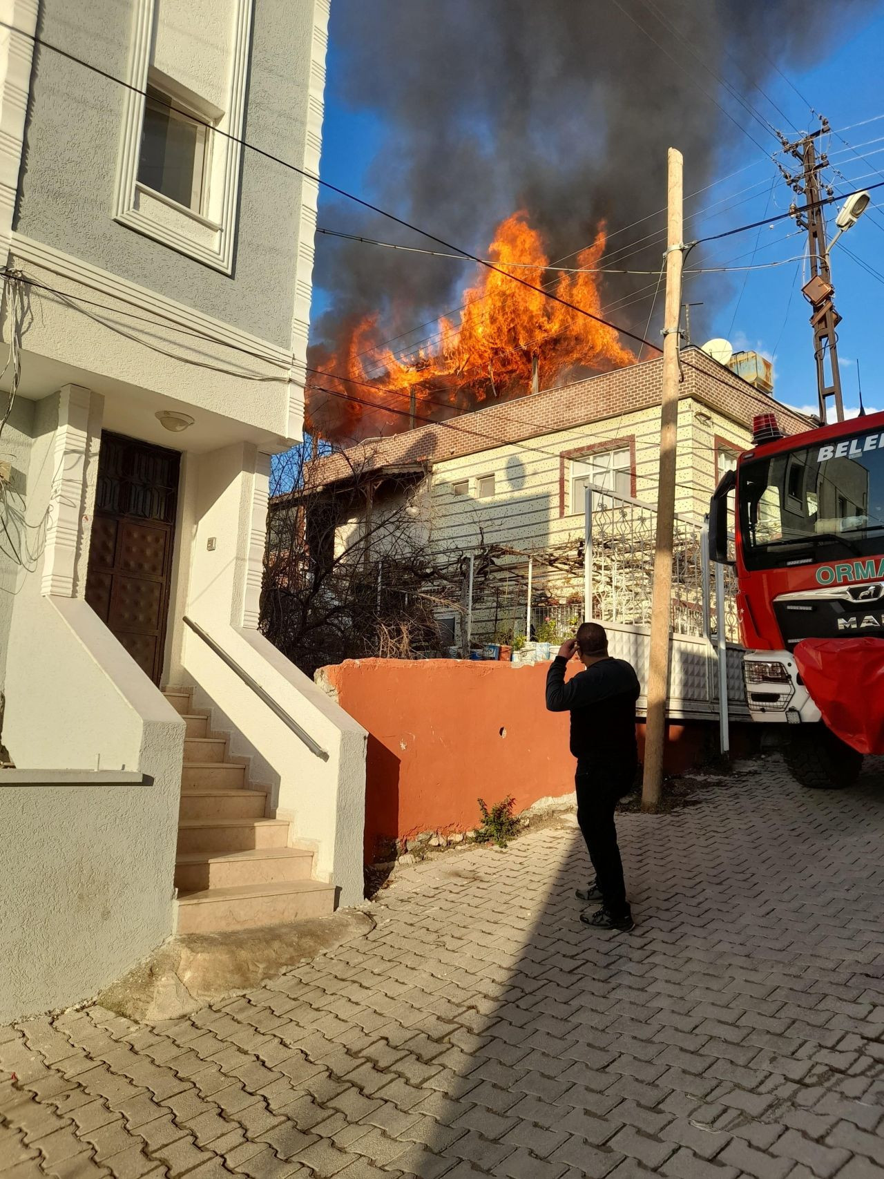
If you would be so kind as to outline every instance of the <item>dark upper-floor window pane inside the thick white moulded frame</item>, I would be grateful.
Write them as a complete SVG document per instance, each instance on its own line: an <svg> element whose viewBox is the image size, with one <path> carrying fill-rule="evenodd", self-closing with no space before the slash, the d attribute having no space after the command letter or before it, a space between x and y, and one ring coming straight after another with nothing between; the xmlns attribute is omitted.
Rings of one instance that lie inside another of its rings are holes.
<svg viewBox="0 0 884 1179"><path fill-rule="evenodd" d="M203 213L207 204L210 137L206 119L185 113L171 94L149 87L138 183L185 209Z"/></svg>

